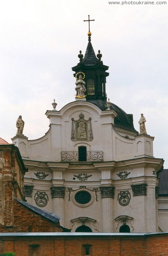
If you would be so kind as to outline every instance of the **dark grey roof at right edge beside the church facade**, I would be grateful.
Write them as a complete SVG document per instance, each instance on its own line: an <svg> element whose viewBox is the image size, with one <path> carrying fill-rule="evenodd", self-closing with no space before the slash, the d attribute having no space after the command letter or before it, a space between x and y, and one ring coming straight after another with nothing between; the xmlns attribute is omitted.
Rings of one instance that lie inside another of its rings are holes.
<svg viewBox="0 0 168 256"><path fill-rule="evenodd" d="M168 196L168 169L159 173L159 196Z"/></svg>

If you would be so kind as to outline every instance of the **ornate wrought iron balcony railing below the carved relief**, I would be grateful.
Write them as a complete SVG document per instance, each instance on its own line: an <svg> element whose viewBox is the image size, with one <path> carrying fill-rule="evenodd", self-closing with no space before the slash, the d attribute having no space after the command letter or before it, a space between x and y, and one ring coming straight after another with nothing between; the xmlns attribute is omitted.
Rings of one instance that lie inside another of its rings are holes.
<svg viewBox="0 0 168 256"><path fill-rule="evenodd" d="M103 151L87 151L86 156L79 156L78 151L62 151L61 161L103 161Z"/></svg>

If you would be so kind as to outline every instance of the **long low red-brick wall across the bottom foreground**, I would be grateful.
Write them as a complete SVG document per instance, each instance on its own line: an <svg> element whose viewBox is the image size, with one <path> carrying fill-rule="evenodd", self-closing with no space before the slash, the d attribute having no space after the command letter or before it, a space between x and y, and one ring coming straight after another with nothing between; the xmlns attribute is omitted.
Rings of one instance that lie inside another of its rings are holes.
<svg viewBox="0 0 168 256"><path fill-rule="evenodd" d="M86 233L85 233L86 234ZM59 233L46 236L0 236L0 253L14 251L16 256L167 256L168 233L83 235ZM86 254L86 246L89 254Z"/></svg>

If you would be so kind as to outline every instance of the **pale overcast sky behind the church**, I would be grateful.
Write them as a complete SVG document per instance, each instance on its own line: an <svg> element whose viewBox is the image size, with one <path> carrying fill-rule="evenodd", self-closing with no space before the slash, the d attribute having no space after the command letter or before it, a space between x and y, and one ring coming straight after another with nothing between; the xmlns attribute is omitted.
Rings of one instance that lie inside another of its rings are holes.
<svg viewBox="0 0 168 256"><path fill-rule="evenodd" d="M154 2L156 3L156 2ZM166 5L110 5L107 0L0 1L0 137L16 135L19 115L29 140L49 129L46 110L75 100L71 67L92 45L109 66L110 102L140 114L154 139L154 157L168 168L168 1Z"/></svg>

